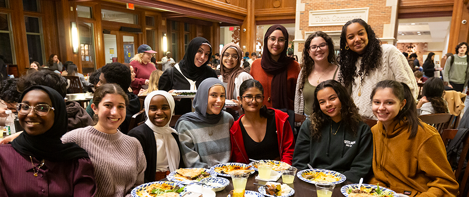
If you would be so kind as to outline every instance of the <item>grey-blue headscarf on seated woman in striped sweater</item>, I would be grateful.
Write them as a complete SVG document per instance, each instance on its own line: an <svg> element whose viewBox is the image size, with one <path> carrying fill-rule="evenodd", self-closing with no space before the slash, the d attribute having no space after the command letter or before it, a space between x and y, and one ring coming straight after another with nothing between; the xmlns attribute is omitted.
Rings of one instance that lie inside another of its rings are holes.
<svg viewBox="0 0 469 197"><path fill-rule="evenodd" d="M181 120L187 120L196 123L206 123L210 125L214 125L220 122L223 117L223 110L220 111L219 114L207 113L208 91L213 86L223 86L223 84L219 79L213 77L207 78L203 80L202 83L200 83L197 89L197 93L195 93L195 98L193 102L195 112L190 112L182 115L181 118L178 119L178 122L176 122L176 126L174 128L178 128L179 122L181 122ZM223 86L223 88L225 88L225 86ZM223 103L222 108L224 106L225 103Z"/></svg>

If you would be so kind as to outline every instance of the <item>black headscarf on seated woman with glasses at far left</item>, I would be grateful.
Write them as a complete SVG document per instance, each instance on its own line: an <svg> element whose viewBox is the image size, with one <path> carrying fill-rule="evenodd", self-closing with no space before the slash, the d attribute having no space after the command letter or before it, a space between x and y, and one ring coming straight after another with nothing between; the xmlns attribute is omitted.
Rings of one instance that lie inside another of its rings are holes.
<svg viewBox="0 0 469 197"><path fill-rule="evenodd" d="M26 89L21 95L21 102L29 91L42 90L49 95L54 107L54 125L39 135L30 135L26 131L22 132L11 145L24 155L33 156L54 162L68 161L79 158L89 158L88 153L76 143L63 144L60 137L67 132L67 111L65 101L60 94L52 88L46 86L32 86ZM34 110L34 109L31 109ZM51 113L52 109L49 111Z"/></svg>

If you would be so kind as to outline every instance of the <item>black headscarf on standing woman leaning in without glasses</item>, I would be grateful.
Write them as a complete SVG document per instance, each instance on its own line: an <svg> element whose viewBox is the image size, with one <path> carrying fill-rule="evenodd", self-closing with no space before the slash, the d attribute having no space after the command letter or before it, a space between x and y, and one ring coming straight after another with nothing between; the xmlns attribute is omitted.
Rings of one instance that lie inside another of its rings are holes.
<svg viewBox="0 0 469 197"><path fill-rule="evenodd" d="M197 50L200 45L202 45L202 43L206 43L207 46L210 46L210 54L208 55L208 60L203 63L202 66L197 67L194 64L195 54L197 53ZM212 77L211 73L213 73L213 70L210 66L207 66L211 56L212 46L210 45L210 42L203 37L196 37L192 39L187 46L186 54L184 54L184 58L179 62L178 65L185 77L193 81L203 80L208 77Z"/></svg>

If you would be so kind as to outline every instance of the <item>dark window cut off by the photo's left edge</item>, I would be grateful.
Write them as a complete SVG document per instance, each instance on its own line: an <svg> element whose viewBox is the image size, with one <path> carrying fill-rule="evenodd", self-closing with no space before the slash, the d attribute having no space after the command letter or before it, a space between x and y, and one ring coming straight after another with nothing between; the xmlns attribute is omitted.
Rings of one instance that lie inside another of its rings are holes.
<svg viewBox="0 0 469 197"><path fill-rule="evenodd" d="M13 55L13 34L10 31L8 14L0 13L0 55L6 64L15 64Z"/></svg>

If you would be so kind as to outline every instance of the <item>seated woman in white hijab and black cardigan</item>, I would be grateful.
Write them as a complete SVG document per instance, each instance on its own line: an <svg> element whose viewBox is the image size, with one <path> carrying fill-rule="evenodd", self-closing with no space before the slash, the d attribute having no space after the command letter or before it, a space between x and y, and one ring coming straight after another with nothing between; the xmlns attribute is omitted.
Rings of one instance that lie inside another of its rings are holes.
<svg viewBox="0 0 469 197"><path fill-rule="evenodd" d="M184 167L177 131L169 127L173 111L173 97L166 91L153 91L145 98L147 121L128 133L142 144L147 159L145 183L163 179L169 172Z"/></svg>

